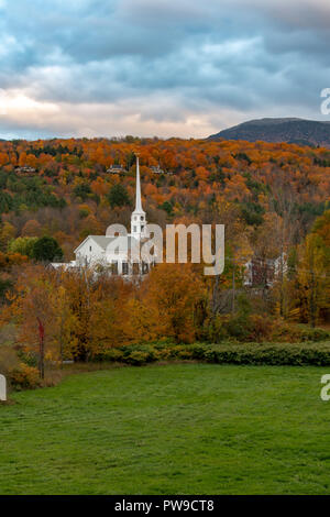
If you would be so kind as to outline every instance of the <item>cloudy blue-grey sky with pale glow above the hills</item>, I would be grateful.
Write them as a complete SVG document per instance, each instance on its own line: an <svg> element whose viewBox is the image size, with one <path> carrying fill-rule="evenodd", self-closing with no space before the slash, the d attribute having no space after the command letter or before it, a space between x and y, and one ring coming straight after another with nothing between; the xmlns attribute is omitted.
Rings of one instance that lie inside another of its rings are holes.
<svg viewBox="0 0 330 517"><path fill-rule="evenodd" d="M0 0L0 138L330 120L329 72L329 0Z"/></svg>

